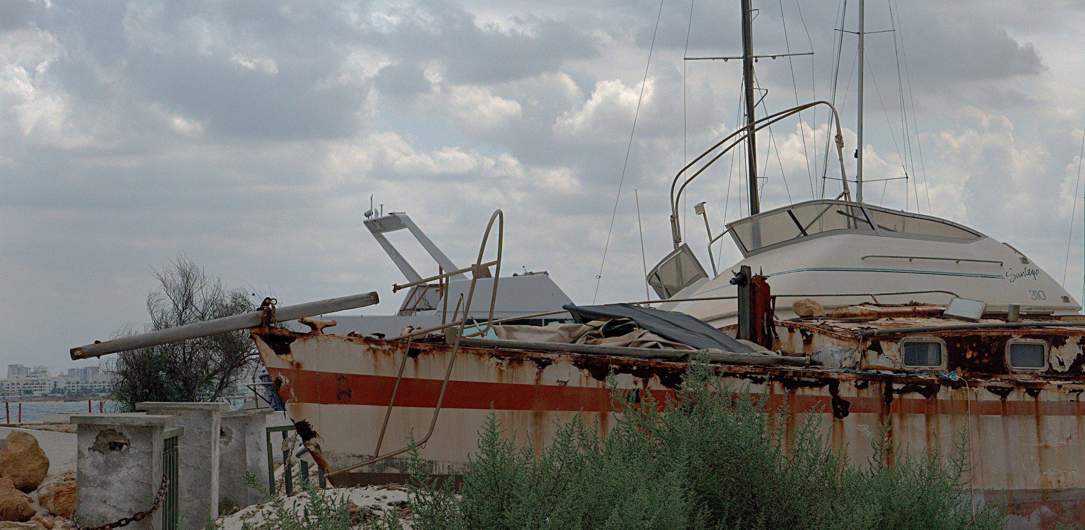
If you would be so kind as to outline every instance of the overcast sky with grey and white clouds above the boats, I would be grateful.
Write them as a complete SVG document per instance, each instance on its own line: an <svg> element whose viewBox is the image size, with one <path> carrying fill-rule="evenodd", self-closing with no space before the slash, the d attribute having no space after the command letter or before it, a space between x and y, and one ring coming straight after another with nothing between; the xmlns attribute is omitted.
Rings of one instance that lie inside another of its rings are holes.
<svg viewBox="0 0 1085 530"><path fill-rule="evenodd" d="M971 225L1057 280L1075 216L1080 294L1085 3L867 7L868 31L895 31L867 37L866 178L909 177L867 202ZM757 64L758 112L828 99L842 7L754 8L758 54L815 52ZM0 2L0 360L60 366L142 325L151 269L178 255L281 303L378 290L370 312L392 313L403 279L361 223L370 195L458 263L500 208L506 270L548 270L579 303L640 298L635 198L651 267L671 180L739 113L739 62L682 56L740 49L738 0ZM856 66L844 34L848 154ZM838 193L826 118L760 138L764 208ZM694 248L694 203L716 230L741 217L740 168L724 158L691 186Z"/></svg>

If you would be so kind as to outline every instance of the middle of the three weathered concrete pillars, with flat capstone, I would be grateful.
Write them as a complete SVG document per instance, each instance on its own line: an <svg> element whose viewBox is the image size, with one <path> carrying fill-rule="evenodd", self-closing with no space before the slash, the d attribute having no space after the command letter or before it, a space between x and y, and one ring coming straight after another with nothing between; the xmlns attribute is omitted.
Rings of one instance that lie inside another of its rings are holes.
<svg viewBox="0 0 1085 530"><path fill-rule="evenodd" d="M137 411L148 414L170 414L171 425L184 427L180 439L180 510L181 530L200 530L207 517L218 517L218 437L222 412L229 409L224 402L136 403Z"/></svg>

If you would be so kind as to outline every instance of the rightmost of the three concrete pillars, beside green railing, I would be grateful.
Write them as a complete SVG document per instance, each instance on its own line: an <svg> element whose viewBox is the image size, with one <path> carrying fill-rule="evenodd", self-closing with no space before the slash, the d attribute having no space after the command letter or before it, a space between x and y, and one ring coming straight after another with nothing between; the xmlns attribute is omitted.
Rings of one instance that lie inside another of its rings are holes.
<svg viewBox="0 0 1085 530"><path fill-rule="evenodd" d="M243 478L245 471L252 471L261 484L268 483L265 428L271 412L271 409L243 409L222 413L218 439L219 514L261 501L259 492L245 486Z"/></svg>

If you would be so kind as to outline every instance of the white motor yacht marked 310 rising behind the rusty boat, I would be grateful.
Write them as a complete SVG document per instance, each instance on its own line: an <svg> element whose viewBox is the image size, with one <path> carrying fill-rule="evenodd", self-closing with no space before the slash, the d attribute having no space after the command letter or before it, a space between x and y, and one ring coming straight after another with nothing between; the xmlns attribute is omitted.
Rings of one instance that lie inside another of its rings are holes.
<svg viewBox="0 0 1085 530"><path fill-rule="evenodd" d="M985 301L990 313L1006 312L1010 303L1020 305L1023 312L1081 311L1081 305L1029 257L935 217L809 201L732 222L727 231L744 259L709 277L682 246L653 270L650 283L656 292L676 299L735 296L732 271L749 266L770 277L781 320L795 316L791 303L800 298L815 298L827 309L863 302L944 306L956 296ZM715 299L668 302L661 309L724 327L736 322L738 306L735 299Z"/></svg>

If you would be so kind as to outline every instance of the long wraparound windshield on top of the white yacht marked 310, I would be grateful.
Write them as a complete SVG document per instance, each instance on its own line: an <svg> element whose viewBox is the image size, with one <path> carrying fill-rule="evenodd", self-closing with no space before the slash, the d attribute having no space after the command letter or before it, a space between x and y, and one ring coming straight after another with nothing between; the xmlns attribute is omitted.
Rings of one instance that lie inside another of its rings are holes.
<svg viewBox="0 0 1085 530"><path fill-rule="evenodd" d="M729 228L746 253L827 232L954 242L982 237L937 219L839 201L802 203L733 222Z"/></svg>

